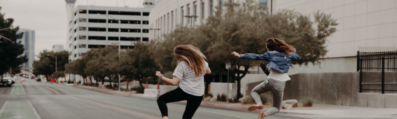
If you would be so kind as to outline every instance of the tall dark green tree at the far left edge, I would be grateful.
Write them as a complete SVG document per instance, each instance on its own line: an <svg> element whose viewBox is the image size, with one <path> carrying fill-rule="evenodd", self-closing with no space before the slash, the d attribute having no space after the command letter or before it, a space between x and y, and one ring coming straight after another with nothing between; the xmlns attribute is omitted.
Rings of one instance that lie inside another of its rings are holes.
<svg viewBox="0 0 397 119"><path fill-rule="evenodd" d="M19 73L19 66L27 61L26 56L21 56L24 46L16 42L23 33L17 34L19 27L13 27L13 21L12 18L4 19L4 14L0 12L0 75L10 70L12 74Z"/></svg>

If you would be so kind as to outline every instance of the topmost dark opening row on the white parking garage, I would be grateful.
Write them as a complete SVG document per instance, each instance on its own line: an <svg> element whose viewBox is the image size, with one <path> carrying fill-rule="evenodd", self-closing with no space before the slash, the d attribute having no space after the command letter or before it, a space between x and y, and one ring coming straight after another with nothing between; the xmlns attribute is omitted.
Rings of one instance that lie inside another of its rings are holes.
<svg viewBox="0 0 397 119"><path fill-rule="evenodd" d="M87 10L79 10L79 13L87 13ZM90 14L106 14L104 10L89 10L88 13ZM125 11L108 11L108 14L112 15L143 15L149 16L149 12L125 12ZM77 15L77 12L75 12Z"/></svg>

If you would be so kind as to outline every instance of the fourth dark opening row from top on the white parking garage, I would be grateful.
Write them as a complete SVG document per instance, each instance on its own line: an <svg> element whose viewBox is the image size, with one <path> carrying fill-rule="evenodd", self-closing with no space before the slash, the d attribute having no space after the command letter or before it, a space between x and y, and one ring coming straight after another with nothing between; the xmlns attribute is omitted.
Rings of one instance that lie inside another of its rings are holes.
<svg viewBox="0 0 397 119"><path fill-rule="evenodd" d="M74 40L76 40L75 37ZM79 36L79 39L87 39L87 36ZM106 36L88 36L88 40L106 40ZM119 40L119 37L108 36L108 40ZM140 41L140 37L120 37L123 41ZM142 38L142 41L149 41L149 38Z"/></svg>

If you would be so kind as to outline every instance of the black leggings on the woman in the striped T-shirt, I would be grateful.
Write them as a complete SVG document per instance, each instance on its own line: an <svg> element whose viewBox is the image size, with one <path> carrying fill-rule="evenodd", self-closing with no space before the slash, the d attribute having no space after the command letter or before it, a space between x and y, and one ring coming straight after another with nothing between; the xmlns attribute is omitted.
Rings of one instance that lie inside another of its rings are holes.
<svg viewBox="0 0 397 119"><path fill-rule="evenodd" d="M193 96L191 94L188 94L178 87L158 97L157 104L163 117L168 116L167 103L187 100L186 109L183 113L182 119L191 119L195 114L198 106L200 106L202 97L203 96Z"/></svg>

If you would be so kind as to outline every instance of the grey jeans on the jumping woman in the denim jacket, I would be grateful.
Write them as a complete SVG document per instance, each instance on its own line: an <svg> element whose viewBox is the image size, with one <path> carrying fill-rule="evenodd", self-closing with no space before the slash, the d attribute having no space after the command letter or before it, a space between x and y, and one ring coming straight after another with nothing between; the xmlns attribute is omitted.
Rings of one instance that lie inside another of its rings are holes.
<svg viewBox="0 0 397 119"><path fill-rule="evenodd" d="M252 89L251 96L255 102L262 102L259 94L271 91L273 93L273 107L266 111L267 115L274 115L279 112L281 108L281 102L283 101L285 82L277 81L274 79L267 79L268 84L263 81ZM264 102L262 102L264 103Z"/></svg>

